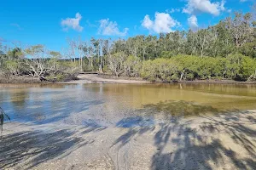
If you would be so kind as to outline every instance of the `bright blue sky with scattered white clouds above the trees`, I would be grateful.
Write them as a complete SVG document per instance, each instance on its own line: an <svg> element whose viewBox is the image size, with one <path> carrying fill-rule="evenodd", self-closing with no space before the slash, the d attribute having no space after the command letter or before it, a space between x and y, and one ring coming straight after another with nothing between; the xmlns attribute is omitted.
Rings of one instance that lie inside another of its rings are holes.
<svg viewBox="0 0 256 170"><path fill-rule="evenodd" d="M8 0L0 5L0 39L44 44L67 38L131 37L214 25L230 11L248 12L254 0Z"/></svg>

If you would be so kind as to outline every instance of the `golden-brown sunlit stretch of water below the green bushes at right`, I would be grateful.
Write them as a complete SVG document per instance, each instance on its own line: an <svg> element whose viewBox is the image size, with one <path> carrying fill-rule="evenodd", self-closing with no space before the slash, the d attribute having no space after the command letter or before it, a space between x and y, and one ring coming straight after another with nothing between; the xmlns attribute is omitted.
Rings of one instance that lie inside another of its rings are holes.
<svg viewBox="0 0 256 170"><path fill-rule="evenodd" d="M254 109L255 85L230 84L84 84L84 90L108 96L116 102L143 108L160 101L189 101L217 109Z"/></svg>

